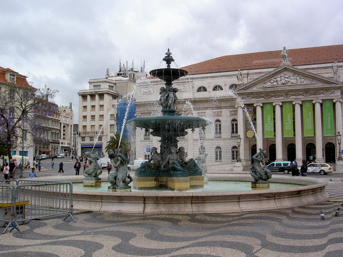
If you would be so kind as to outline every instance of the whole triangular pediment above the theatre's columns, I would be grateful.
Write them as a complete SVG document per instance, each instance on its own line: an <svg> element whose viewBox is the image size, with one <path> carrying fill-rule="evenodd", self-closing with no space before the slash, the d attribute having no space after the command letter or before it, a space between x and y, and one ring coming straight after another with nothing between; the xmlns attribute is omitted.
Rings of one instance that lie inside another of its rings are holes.
<svg viewBox="0 0 343 257"><path fill-rule="evenodd" d="M286 89L321 85L339 85L337 81L292 66L281 66L240 87L237 91Z"/></svg>

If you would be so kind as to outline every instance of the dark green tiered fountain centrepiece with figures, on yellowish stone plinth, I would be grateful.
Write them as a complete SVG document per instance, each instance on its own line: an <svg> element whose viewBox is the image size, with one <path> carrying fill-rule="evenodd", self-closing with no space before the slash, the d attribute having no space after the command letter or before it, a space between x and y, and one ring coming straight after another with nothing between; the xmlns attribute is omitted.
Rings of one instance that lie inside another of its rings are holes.
<svg viewBox="0 0 343 257"><path fill-rule="evenodd" d="M153 136L161 137L161 152L155 151L151 163L142 163L141 167L135 171L135 180L133 187L137 189L168 187L175 191L189 190L191 187L203 187L204 176L202 169L193 159L186 161L185 149L178 148L177 137L185 136L186 130L192 132L196 128L204 127L210 124L199 117L181 117L176 116L177 88L173 88L173 81L182 76L188 75L188 72L180 69L170 68L174 61L171 52L166 52L163 61L167 63L167 68L150 71L152 76L165 81L165 87L161 88L162 94L160 103L162 106L162 116L157 117L139 117L129 120L127 124L134 127L153 130L150 132Z"/></svg>

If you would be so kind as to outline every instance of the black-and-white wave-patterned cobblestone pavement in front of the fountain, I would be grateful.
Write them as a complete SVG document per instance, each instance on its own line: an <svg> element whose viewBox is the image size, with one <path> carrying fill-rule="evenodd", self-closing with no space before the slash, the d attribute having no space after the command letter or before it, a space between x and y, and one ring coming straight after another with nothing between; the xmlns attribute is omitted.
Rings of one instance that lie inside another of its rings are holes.
<svg viewBox="0 0 343 257"><path fill-rule="evenodd" d="M330 200L343 182L329 181ZM207 215L92 212L33 220L0 235L1 256L343 256L341 202L273 211ZM320 210L325 220L320 219Z"/></svg>

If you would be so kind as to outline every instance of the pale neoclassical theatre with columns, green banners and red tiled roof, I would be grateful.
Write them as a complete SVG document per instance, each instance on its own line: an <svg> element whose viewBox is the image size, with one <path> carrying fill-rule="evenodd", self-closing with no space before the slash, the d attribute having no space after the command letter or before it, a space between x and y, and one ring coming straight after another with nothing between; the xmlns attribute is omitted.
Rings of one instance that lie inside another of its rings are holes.
<svg viewBox="0 0 343 257"><path fill-rule="evenodd" d="M239 157L249 166L259 148L267 149L269 161L301 163L316 155L317 162L334 163L336 134L343 134L342 64L343 45L335 45L222 56L182 67L189 75L173 82L178 114L212 124L189 130L178 144L187 158L205 148L212 168ZM158 113L162 86L158 78L140 86L136 117ZM136 130L136 158L149 158L149 147L159 149L159 138L149 132Z"/></svg>

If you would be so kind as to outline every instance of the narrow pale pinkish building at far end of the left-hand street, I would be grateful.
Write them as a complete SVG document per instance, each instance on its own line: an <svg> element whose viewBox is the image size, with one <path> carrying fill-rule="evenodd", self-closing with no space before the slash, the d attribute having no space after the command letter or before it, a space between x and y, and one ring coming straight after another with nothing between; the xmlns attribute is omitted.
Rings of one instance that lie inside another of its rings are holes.
<svg viewBox="0 0 343 257"><path fill-rule="evenodd" d="M73 146L73 109L71 103L69 106L58 107L61 114L60 119L60 147L59 153L71 153L74 151Z"/></svg>

